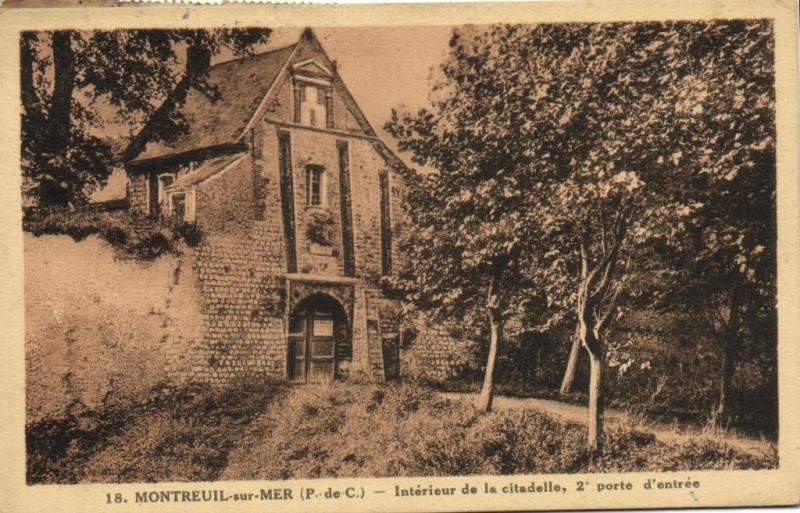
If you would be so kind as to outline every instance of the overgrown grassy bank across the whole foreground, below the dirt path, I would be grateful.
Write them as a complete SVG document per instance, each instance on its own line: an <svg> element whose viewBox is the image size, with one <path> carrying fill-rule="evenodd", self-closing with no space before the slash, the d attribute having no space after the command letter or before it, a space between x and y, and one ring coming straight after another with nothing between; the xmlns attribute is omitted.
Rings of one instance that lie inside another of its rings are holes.
<svg viewBox="0 0 800 513"><path fill-rule="evenodd" d="M287 392L288 390L288 392ZM536 411L483 413L410 384L265 382L156 387L137 401L29 425L29 483L212 481L761 469L712 437L663 444L586 430Z"/></svg>

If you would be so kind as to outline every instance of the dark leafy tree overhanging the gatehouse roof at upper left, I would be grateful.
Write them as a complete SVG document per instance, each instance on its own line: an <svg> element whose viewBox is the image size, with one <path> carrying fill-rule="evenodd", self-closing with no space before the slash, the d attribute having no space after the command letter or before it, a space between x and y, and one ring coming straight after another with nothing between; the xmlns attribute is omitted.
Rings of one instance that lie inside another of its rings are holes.
<svg viewBox="0 0 800 513"><path fill-rule="evenodd" d="M183 126L174 119L175 106L188 89L215 94L205 80L211 56L222 48L245 54L269 34L260 28L23 33L26 196L40 206L85 202L120 157L103 137L109 118L131 127L144 119L151 125L155 119L171 119L172 130L161 134L177 137ZM183 67L177 55L181 48L187 48ZM176 85L181 87L173 93ZM165 107L157 111L161 104Z"/></svg>

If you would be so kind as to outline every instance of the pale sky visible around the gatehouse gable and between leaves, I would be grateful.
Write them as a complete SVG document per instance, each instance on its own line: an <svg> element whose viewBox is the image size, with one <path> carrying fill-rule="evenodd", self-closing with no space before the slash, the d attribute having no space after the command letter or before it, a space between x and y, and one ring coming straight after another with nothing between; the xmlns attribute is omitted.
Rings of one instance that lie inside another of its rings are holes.
<svg viewBox="0 0 800 513"><path fill-rule="evenodd" d="M452 27L332 27L313 28L325 52L337 61L339 74L372 127L392 149L397 145L383 130L391 109L416 111L428 103L432 72L448 51ZM302 28L276 29L267 51L293 44ZM233 58L222 53L214 63ZM409 156L400 154L407 163ZM125 174L117 172L95 201L125 195Z"/></svg>

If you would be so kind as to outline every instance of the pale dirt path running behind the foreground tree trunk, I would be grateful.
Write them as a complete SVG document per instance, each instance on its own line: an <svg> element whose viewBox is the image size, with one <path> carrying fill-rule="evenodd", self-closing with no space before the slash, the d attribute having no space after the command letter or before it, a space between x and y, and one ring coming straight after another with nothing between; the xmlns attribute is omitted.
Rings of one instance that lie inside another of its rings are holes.
<svg viewBox="0 0 800 513"><path fill-rule="evenodd" d="M472 401L475 398L474 394L443 393L442 395L448 399L460 401ZM561 420L574 422L576 424L585 424L587 420L585 406L551 401L548 399L523 399L517 397L495 396L493 407L499 410L538 410L553 417L558 417ZM699 428L693 426L637 422L634 421L627 413L610 408L606 409L605 419L606 424L609 427L625 427L628 429L636 428L641 431L653 433L657 440L664 443L676 441L684 442L692 438L708 436L704 435ZM724 440L734 449L752 455L763 454L768 451L772 445L767 440L747 437L731 432L715 436L718 436L720 439Z"/></svg>

